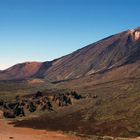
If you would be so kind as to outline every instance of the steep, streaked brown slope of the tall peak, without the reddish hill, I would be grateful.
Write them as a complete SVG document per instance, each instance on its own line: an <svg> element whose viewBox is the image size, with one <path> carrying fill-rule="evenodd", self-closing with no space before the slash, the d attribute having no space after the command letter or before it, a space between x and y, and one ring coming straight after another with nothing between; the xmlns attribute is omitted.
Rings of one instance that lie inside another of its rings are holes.
<svg viewBox="0 0 140 140"><path fill-rule="evenodd" d="M128 30L64 56L52 63L44 76L64 80L134 63L140 56L140 28Z"/></svg>

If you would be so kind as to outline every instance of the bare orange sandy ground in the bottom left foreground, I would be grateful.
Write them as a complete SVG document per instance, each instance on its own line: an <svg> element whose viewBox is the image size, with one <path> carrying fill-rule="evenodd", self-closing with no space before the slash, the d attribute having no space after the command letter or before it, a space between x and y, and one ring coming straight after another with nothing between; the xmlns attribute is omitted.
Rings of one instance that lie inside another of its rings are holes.
<svg viewBox="0 0 140 140"><path fill-rule="evenodd" d="M13 127L9 121L2 119L0 112L0 140L81 140L75 136L68 136L63 132L34 130L31 128Z"/></svg>

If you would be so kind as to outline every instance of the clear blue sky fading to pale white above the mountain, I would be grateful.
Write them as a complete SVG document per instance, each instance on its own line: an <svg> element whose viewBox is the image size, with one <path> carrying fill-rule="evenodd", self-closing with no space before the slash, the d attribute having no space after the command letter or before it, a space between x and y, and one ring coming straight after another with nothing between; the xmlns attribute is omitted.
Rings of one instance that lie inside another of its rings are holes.
<svg viewBox="0 0 140 140"><path fill-rule="evenodd" d="M48 61L140 26L140 0L0 0L0 69Z"/></svg>

